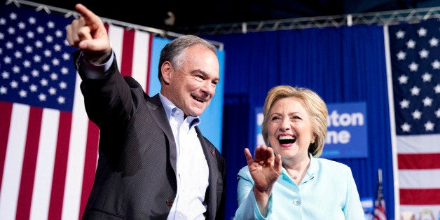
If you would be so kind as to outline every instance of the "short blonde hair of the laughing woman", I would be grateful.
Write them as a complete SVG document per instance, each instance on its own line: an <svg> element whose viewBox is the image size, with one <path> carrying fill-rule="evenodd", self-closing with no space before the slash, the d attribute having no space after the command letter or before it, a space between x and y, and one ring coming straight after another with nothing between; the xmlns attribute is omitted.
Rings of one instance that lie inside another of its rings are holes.
<svg viewBox="0 0 440 220"><path fill-rule="evenodd" d="M324 148L325 136L327 132L328 110L324 100L316 92L308 88L292 87L290 85L277 85L271 88L266 96L263 106L263 124L261 125L264 142L270 146L268 140L268 123L270 119L270 110L275 102L287 97L296 97L303 100L305 110L308 112L311 120L313 134L316 135L315 142L310 143L308 152L317 158L321 156Z"/></svg>

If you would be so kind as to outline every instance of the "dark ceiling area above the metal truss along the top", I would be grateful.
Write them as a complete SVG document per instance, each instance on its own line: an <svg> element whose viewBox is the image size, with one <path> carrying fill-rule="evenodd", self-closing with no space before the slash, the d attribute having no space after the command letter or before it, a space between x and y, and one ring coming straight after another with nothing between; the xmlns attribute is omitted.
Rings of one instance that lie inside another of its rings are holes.
<svg viewBox="0 0 440 220"><path fill-rule="evenodd" d="M215 0L215 1L112 1L107 0L35 0L70 11L81 3L102 18L110 18L145 27L166 29L179 34L195 34L202 25L305 18L328 15L430 8L440 0ZM167 12L175 15L174 25L165 25ZM191 28L188 28L191 27Z"/></svg>

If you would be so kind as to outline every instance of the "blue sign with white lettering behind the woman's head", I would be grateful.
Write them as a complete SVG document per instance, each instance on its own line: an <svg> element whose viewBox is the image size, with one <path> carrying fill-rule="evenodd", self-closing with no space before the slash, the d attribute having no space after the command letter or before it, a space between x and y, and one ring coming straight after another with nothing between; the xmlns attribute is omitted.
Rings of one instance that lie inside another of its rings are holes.
<svg viewBox="0 0 440 220"><path fill-rule="evenodd" d="M366 158L368 157L368 135L366 125L366 102L344 102L327 104L327 135L322 158ZM263 144L261 123L263 108L256 111L256 144Z"/></svg>

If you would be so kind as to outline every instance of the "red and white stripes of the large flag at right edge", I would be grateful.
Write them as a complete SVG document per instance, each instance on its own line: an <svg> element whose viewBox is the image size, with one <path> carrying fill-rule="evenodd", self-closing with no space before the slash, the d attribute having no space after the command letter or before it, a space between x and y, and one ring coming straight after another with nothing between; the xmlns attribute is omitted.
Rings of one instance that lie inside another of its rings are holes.
<svg viewBox="0 0 440 220"><path fill-rule="evenodd" d="M400 209L440 213L440 135L397 136ZM414 197L414 195L417 195Z"/></svg>

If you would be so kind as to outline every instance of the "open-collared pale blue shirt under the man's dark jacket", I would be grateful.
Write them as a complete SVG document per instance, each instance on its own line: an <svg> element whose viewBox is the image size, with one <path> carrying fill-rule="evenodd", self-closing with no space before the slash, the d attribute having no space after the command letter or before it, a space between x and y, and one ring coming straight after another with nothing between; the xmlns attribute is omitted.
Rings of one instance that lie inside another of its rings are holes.
<svg viewBox="0 0 440 220"><path fill-rule="evenodd" d="M205 192L209 170L202 145L195 132L199 117L187 116L159 94L177 147L177 195L167 219L205 219Z"/></svg>

